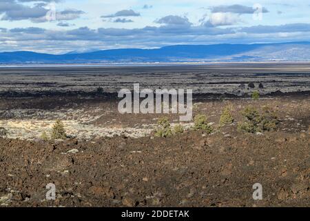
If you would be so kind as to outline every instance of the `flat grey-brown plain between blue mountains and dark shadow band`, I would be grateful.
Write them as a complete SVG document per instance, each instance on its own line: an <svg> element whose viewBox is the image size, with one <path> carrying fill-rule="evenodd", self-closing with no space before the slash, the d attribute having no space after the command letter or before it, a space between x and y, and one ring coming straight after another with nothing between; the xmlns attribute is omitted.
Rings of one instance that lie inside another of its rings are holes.
<svg viewBox="0 0 310 221"><path fill-rule="evenodd" d="M117 92L141 84L143 88L190 88L194 93L242 95L281 90L283 93L309 90L310 64L213 64L196 66L37 67L0 68L0 93L91 92L102 87ZM256 88L247 84L254 83Z"/></svg>

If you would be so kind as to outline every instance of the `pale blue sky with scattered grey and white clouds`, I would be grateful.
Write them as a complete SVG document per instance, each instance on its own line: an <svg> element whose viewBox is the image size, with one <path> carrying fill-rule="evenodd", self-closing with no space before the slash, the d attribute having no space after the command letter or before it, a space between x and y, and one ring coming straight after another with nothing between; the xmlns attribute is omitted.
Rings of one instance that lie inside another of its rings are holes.
<svg viewBox="0 0 310 221"><path fill-rule="evenodd" d="M0 0L0 52L310 41L304 0Z"/></svg>

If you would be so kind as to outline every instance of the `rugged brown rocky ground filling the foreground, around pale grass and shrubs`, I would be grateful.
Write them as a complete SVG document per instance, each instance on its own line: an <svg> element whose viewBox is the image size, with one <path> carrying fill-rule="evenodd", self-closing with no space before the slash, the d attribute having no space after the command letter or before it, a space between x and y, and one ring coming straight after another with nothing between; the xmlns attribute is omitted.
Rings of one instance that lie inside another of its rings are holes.
<svg viewBox="0 0 310 221"><path fill-rule="evenodd" d="M188 130L167 138L99 134L43 142L3 136L1 206L310 206L309 95L194 103L194 115L207 115L214 127L231 105L235 123L211 135ZM273 108L278 130L238 131L247 105ZM38 110L48 110L61 111L56 117L66 120L74 118L68 110L81 109L93 117L85 124L114 128L139 128L161 117L121 115L116 107L116 101L89 97L2 98L0 116L31 122L45 119ZM169 119L177 123L178 116ZM49 183L56 186L56 200L45 199ZM262 184L262 200L252 198L256 183Z"/></svg>

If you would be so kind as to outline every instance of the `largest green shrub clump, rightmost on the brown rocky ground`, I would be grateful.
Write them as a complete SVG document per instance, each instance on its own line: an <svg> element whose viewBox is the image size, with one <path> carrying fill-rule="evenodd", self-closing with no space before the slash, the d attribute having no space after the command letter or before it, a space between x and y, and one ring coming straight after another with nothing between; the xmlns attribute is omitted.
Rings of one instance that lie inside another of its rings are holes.
<svg viewBox="0 0 310 221"><path fill-rule="evenodd" d="M246 118L246 121L238 124L238 130L247 133L275 131L279 122L276 113L269 109L265 109L260 114L256 108L248 106L241 114Z"/></svg>

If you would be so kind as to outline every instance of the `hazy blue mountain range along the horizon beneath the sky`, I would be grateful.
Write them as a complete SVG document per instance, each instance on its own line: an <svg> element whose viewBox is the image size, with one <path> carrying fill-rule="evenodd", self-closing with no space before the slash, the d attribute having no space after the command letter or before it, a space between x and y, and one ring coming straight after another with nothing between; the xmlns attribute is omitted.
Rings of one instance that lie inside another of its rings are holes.
<svg viewBox="0 0 310 221"><path fill-rule="evenodd" d="M0 52L0 64L112 64L210 61L310 61L310 42L280 44L178 45L156 49L113 49L65 55Z"/></svg>

